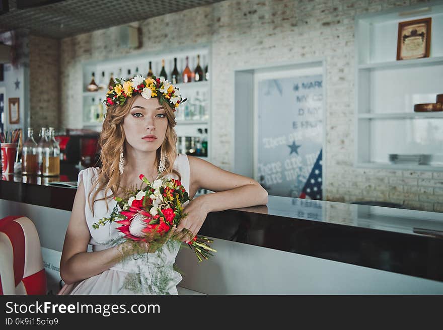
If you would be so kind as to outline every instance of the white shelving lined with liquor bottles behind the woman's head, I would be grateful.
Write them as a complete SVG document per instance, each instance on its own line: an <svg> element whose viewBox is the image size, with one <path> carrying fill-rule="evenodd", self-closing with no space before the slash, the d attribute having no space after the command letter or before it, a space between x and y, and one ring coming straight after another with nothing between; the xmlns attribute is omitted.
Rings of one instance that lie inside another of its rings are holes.
<svg viewBox="0 0 443 330"><path fill-rule="evenodd" d="M116 58L106 61L90 61L83 63L83 105L82 105L82 122L83 128L89 128L100 131L102 121L97 121L94 109L91 106L97 105L103 101L107 88L98 92L88 92L87 85L91 81L92 73L95 73L95 81L100 86L102 80L104 85L108 86L111 73L114 77L127 78L134 76L138 70L138 74L146 76L149 70L149 62L152 62L153 73L158 76L162 67L162 59L165 59L165 69L167 71L168 80L171 81L171 72L174 68L174 57L177 57L177 69L181 73L186 67L186 56L189 58L189 68L194 71L197 66L197 55L200 55L200 66L202 69L208 65L208 72L211 72L210 66L210 49L209 46L193 47L192 49L176 49L164 52L153 52L142 55L125 56L124 58ZM105 72L105 78L102 79L102 72ZM201 128L207 129L208 156L200 158L210 159L211 148L211 130L210 130L210 106L211 106L211 85L210 81L192 81L188 83L176 84L180 89L183 98L187 98L185 104L179 107L176 112L175 131L178 137L197 137L197 130ZM106 107L103 107L106 111Z"/></svg>

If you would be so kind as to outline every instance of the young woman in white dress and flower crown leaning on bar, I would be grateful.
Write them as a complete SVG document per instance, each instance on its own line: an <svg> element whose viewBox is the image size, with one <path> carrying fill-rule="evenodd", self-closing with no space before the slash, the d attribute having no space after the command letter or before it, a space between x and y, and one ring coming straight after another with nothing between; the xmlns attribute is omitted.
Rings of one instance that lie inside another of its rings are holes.
<svg viewBox="0 0 443 330"><path fill-rule="evenodd" d="M256 181L221 170L198 157L177 155L174 112L185 101L167 80L155 77L118 81L108 92L100 134L102 168L79 173L64 240L60 275L69 284L62 290L64 294L177 294L176 285L182 278L172 266L180 242L170 241L168 249L155 252L150 251L149 243L140 243L148 253L148 262L132 260L121 264L116 260L124 244L105 245L119 237L115 230L119 225L113 222L92 228L93 223L110 215L116 203L112 197L123 196L125 187L140 186L140 174L150 182L159 174L179 179L191 199L200 188L214 192L198 196L185 206L188 216L176 228L176 234L187 228L196 235L208 212L267 203L268 194ZM186 242L190 239L188 235L180 237ZM92 253L87 252L88 244L93 245ZM153 267L166 271L162 276L168 281L163 283L163 290L140 279L135 281L137 285L127 285L128 274L144 273L149 278L154 274Z"/></svg>

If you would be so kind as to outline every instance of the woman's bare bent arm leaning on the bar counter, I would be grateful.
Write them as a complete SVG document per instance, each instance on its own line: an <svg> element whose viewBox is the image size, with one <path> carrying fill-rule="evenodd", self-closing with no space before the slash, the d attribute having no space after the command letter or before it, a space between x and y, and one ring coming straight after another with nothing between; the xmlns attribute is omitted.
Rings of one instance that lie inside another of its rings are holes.
<svg viewBox="0 0 443 330"><path fill-rule="evenodd" d="M215 193L201 195L207 212L266 205L268 192L255 180L222 170L201 158L188 156L190 178L198 188Z"/></svg>

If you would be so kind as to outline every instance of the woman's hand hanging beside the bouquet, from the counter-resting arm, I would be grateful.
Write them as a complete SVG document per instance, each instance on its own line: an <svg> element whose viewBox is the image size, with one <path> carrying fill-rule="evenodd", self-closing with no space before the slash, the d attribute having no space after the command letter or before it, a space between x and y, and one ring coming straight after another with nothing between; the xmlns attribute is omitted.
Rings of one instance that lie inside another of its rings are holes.
<svg viewBox="0 0 443 330"><path fill-rule="evenodd" d="M181 235L182 242L188 242L194 237L201 226L203 225L204 220L206 220L206 216L208 211L204 207L203 199L197 197L190 201L184 208L183 212L188 215L186 218L180 221L180 224L177 226L176 232ZM186 231L182 231L183 229L188 229L192 233L192 237L189 237L189 234ZM180 237L180 236L179 236Z"/></svg>

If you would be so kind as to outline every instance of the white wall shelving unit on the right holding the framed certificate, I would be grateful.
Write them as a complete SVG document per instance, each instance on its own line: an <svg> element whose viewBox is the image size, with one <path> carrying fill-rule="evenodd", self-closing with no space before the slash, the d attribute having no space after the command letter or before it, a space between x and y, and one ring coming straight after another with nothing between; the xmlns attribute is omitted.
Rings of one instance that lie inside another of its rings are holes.
<svg viewBox="0 0 443 330"><path fill-rule="evenodd" d="M430 56L396 60L398 23L432 18ZM355 19L355 166L443 171L443 112L414 112L443 94L443 3ZM428 165L394 164L389 154L429 154Z"/></svg>

